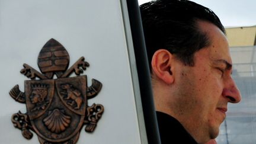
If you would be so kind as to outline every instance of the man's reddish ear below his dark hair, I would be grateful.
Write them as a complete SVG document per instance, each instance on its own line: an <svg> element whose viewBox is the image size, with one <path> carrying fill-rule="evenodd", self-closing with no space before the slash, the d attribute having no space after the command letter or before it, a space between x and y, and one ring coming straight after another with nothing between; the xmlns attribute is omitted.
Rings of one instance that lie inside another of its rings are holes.
<svg viewBox="0 0 256 144"><path fill-rule="evenodd" d="M168 85L174 82L173 60L174 55L165 49L157 50L152 57L152 72Z"/></svg>

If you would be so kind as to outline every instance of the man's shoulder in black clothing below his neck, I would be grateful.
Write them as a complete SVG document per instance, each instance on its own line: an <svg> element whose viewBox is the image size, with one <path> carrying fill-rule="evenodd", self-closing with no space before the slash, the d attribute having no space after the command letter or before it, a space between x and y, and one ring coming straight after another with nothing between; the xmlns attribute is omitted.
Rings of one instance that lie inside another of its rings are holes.
<svg viewBox="0 0 256 144"><path fill-rule="evenodd" d="M156 116L162 144L197 144L196 140L193 139L182 124L174 117L159 111L156 111Z"/></svg>

